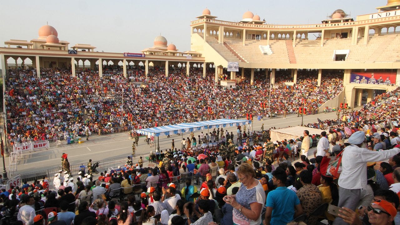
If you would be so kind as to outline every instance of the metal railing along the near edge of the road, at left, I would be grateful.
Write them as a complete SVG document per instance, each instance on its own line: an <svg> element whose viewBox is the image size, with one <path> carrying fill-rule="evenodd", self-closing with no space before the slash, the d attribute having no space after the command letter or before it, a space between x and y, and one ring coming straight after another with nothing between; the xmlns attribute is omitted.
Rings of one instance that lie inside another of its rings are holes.
<svg viewBox="0 0 400 225"><path fill-rule="evenodd" d="M118 157L114 159L104 159L100 161L93 160L92 162L99 162L99 166L96 168L96 170L100 172L104 172L108 170L110 167L118 167L120 165L124 165L126 163L126 159L129 155L123 156L123 157ZM134 163L137 163L140 156L143 156L143 154L136 154L135 157L132 159ZM78 172L80 171L80 167L85 166L85 171L87 172L87 163L80 163L80 164L75 164L75 165L70 165L70 170L72 176L78 175ZM50 183L52 184L52 179L54 177L54 174L58 173L58 171L62 169L62 167L53 167L51 169L44 169L44 170L39 170L39 171L32 171L28 173L21 173L21 178L22 182L27 181L33 182L35 180L41 180L43 177L48 177Z"/></svg>

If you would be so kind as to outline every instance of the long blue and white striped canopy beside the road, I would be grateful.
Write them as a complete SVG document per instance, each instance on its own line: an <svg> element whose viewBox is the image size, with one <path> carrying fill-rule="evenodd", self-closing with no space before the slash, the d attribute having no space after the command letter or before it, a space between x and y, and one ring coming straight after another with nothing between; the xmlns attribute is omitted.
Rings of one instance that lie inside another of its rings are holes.
<svg viewBox="0 0 400 225"><path fill-rule="evenodd" d="M141 135L154 135L156 137L164 135L173 135L178 133L187 133L192 131L200 131L204 129L212 129L219 127L232 127L239 125L246 125L251 123L251 120L231 120L231 119L218 119L211 121L200 121L193 123L180 123L176 125L168 125L162 127L152 127L146 129L136 130Z"/></svg>

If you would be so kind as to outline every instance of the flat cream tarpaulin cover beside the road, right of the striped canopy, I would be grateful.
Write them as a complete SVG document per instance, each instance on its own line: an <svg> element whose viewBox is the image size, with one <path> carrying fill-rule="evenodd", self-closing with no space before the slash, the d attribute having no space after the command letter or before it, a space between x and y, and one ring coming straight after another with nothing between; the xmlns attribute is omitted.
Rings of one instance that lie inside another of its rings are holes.
<svg viewBox="0 0 400 225"><path fill-rule="evenodd" d="M282 129L274 129L270 130L270 137L271 141L282 141L284 139L289 140L289 139L296 139L299 138L300 136L304 136L304 131L307 130L310 135L316 134L320 135L322 131L320 129L315 129L315 128L310 128L310 127L288 127L288 128L282 128Z"/></svg>

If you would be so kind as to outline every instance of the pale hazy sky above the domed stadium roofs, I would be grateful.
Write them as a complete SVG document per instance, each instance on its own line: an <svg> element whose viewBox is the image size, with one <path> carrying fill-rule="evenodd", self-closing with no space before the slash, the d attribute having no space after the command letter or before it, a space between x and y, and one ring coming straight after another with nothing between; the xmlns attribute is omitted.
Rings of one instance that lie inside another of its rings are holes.
<svg viewBox="0 0 400 225"><path fill-rule="evenodd" d="M190 50L190 21L208 8L219 20L240 21L250 10L270 24L315 24L336 9L351 17L377 12L386 0L0 0L0 46L10 39L32 40L48 22L70 46L96 51L139 52L160 33L178 50Z"/></svg>

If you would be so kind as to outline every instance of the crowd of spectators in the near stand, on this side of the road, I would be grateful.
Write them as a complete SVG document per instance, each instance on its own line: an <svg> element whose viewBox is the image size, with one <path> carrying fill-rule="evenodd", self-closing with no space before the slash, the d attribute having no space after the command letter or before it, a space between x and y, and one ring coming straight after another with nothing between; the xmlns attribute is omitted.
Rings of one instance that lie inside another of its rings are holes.
<svg viewBox="0 0 400 225"><path fill-rule="evenodd" d="M63 225L315 225L321 220L397 224L400 129L382 133L373 129L350 135L324 131L316 142L308 131L296 142L278 144L268 137L261 143L238 146L223 139L218 147L204 151L166 150L156 167L143 167L128 158L126 165L96 178L61 170L54 175L55 190L49 189L47 177L0 190L0 221L28 225L42 225L44 220ZM389 144L382 141L387 137ZM348 143L342 142L347 138ZM199 144L203 142L207 139L198 139ZM303 154L315 145L316 157L308 159ZM323 156L338 155L343 148L337 183L328 174ZM301 160L294 163L298 152ZM328 204L340 207L340 215L328 213Z"/></svg>

